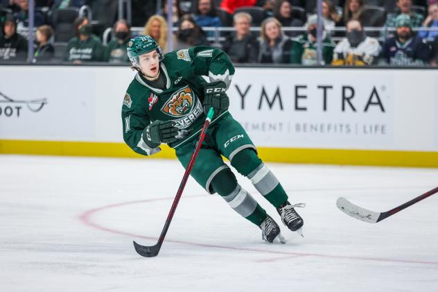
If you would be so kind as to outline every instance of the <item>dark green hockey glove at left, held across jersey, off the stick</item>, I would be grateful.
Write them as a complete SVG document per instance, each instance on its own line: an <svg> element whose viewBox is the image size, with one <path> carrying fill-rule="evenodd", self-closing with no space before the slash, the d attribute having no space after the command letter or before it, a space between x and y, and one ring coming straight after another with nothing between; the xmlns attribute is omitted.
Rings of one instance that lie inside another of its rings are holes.
<svg viewBox="0 0 438 292"><path fill-rule="evenodd" d="M152 121L143 130L143 140L150 148L155 148L161 143L173 143L183 139L189 134L187 130L179 130L173 126L173 121Z"/></svg>

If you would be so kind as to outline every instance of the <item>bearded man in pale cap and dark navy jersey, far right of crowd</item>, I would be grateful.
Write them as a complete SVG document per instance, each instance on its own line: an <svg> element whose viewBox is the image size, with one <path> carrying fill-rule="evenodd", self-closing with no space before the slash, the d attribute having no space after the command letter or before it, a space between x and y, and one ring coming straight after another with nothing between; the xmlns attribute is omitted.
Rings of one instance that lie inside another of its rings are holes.
<svg viewBox="0 0 438 292"><path fill-rule="evenodd" d="M396 36L389 37L380 53L380 65L421 66L427 64L430 49L421 37L412 33L412 19L401 14L396 17Z"/></svg>

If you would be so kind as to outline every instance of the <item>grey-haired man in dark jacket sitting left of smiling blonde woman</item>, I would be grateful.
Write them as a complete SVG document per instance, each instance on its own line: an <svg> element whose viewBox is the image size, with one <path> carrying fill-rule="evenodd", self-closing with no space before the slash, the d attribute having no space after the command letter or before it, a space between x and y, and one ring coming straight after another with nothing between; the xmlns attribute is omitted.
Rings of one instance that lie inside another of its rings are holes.
<svg viewBox="0 0 438 292"><path fill-rule="evenodd" d="M259 56L259 41L249 28L252 17L247 12L238 12L233 17L235 31L224 44L224 51L236 63L255 63Z"/></svg>

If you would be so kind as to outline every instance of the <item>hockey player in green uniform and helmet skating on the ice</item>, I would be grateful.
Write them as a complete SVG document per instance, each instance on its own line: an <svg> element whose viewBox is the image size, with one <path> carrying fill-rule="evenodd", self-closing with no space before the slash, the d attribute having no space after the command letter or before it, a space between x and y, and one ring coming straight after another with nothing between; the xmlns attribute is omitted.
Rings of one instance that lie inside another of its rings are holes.
<svg viewBox="0 0 438 292"><path fill-rule="evenodd" d="M215 110L191 176L209 194L218 193L232 209L262 231L262 239L285 242L277 223L245 189L240 187L227 157L239 173L277 208L283 223L300 230L302 218L290 205L281 184L258 157L256 147L240 123L228 112L225 93L234 74L227 54L209 46L173 51L164 55L157 42L140 35L128 42L132 68L138 71L123 99L123 138L133 151L152 155L161 143L176 151L186 167L200 134L205 113Z"/></svg>

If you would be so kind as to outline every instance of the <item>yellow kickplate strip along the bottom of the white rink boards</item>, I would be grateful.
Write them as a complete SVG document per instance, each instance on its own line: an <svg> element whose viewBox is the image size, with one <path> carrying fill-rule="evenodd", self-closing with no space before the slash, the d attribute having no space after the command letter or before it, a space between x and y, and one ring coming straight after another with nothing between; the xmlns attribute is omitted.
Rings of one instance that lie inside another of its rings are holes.
<svg viewBox="0 0 438 292"><path fill-rule="evenodd" d="M438 167L438 152L268 147L257 150L265 162ZM123 143L76 141L0 140L0 154L145 157ZM175 158L175 151L164 145L161 152L147 158Z"/></svg>

